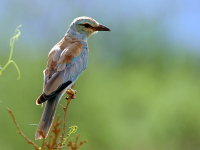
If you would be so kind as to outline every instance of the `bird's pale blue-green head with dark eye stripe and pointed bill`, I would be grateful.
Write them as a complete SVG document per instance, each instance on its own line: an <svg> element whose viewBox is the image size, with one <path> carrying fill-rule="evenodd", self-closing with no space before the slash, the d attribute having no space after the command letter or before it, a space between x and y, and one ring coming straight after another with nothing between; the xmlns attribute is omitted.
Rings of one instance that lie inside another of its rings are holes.
<svg viewBox="0 0 200 150"><path fill-rule="evenodd" d="M110 31L110 29L90 17L78 17L71 23L67 33L79 36L78 38L87 38L97 31Z"/></svg>

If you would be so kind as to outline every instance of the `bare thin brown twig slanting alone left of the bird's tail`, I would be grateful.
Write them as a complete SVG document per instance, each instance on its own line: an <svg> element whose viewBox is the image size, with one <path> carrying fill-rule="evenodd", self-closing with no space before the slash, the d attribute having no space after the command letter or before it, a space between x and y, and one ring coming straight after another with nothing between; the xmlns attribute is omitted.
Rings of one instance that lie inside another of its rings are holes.
<svg viewBox="0 0 200 150"><path fill-rule="evenodd" d="M16 119L15 119L13 113L12 113L12 110L10 110L10 108L8 108L8 107L7 107L7 110L8 110L9 114L10 114L11 117L12 117L12 120L13 120L13 122L14 122L14 124L15 124L17 130L18 130L18 133L28 142L28 144L32 144L36 150L39 150L38 146L37 146L33 141L29 140L29 139L24 135L24 133L21 131L21 129L20 129L19 125L17 124L17 121L16 121Z"/></svg>

